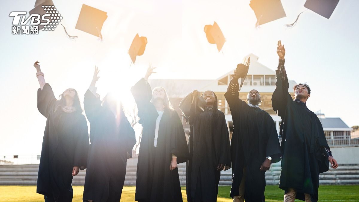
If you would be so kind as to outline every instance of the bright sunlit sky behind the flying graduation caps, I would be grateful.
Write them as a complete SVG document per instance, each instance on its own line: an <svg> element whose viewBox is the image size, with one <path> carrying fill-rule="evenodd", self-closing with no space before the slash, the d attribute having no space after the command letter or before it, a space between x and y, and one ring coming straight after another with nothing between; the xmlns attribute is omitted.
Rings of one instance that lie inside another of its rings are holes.
<svg viewBox="0 0 359 202"><path fill-rule="evenodd" d="M291 29L305 0L282 0L287 17L256 29L249 0L53 0L64 19L55 31L12 35L13 11L29 11L34 1L1 0L0 155L40 154L46 118L37 110L36 70L40 61L55 96L75 88L80 100L99 66L98 93L119 92L131 102L130 87L144 76L149 63L153 79L216 79L253 53L275 69L277 40L286 47L289 79L312 88L308 108L327 117L359 125L358 0L341 0L330 19L308 10ZM82 4L107 12L103 41L75 29ZM206 40L203 28L217 22L226 38L223 53ZM147 37L144 55L135 64L127 51L135 35ZM196 89L196 87L193 87Z"/></svg>

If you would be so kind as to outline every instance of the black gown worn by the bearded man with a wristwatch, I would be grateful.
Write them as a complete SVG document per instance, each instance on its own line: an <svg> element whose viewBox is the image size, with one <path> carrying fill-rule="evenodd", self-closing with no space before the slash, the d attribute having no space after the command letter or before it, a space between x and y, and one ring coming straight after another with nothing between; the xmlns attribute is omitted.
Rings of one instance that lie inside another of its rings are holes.
<svg viewBox="0 0 359 202"><path fill-rule="evenodd" d="M238 87L239 85L237 85ZM272 117L260 108L250 107L229 91L224 94L233 119L233 134L230 145L232 159L232 188L230 196L239 195L239 185L246 167L244 199L258 202L264 198L265 171L259 170L267 156L271 163L280 161L281 151L278 133Z"/></svg>

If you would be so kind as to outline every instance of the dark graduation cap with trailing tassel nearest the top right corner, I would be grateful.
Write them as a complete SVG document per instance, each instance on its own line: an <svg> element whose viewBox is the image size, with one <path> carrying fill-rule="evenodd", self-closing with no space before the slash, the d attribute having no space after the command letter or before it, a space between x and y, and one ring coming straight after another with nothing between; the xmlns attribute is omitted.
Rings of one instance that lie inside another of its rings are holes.
<svg viewBox="0 0 359 202"><path fill-rule="evenodd" d="M338 3L339 0L307 0L304 7L329 19ZM302 13L299 13L299 15ZM298 22L299 15L294 23L286 24L286 26L293 27Z"/></svg>

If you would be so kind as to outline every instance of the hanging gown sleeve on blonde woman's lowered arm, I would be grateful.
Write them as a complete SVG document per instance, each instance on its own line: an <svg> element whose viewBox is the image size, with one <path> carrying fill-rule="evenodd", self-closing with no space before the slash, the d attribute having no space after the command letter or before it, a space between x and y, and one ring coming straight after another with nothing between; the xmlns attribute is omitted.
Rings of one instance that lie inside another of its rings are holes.
<svg viewBox="0 0 359 202"><path fill-rule="evenodd" d="M177 157L177 163L183 163L189 160L187 140L181 119L177 112L172 112L172 136L171 136L171 153Z"/></svg>

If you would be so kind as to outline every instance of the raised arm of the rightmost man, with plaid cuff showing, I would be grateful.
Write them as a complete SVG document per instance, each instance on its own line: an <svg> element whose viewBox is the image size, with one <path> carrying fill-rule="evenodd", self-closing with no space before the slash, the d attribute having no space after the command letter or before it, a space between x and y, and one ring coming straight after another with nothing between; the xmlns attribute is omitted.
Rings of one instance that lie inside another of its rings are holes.
<svg viewBox="0 0 359 202"><path fill-rule="evenodd" d="M290 94L288 92L288 78L284 68L285 49L284 45L282 46L281 41L278 41L277 54L279 56L279 64L277 70L275 70L277 82L272 95L272 108L279 116L282 117L285 113L287 101L290 99Z"/></svg>

